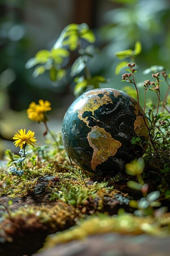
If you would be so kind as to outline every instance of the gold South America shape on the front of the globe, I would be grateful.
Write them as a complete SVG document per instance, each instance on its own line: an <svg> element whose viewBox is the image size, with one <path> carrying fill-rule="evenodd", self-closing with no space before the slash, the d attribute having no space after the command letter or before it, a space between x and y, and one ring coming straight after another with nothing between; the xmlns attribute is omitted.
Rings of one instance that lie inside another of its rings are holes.
<svg viewBox="0 0 170 256"><path fill-rule="evenodd" d="M91 168L95 171L98 164L105 162L108 157L114 156L117 149L121 147L121 142L113 139L104 128L94 126L87 135L88 143L93 148Z"/></svg>

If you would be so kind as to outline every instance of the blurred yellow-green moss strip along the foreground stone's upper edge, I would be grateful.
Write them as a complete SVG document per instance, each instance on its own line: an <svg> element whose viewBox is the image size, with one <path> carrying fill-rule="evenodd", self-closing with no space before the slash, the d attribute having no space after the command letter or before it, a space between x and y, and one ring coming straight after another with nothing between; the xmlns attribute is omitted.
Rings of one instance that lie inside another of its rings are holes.
<svg viewBox="0 0 170 256"><path fill-rule="evenodd" d="M164 215L167 220L168 215ZM119 232L121 234L152 234L156 236L170 235L170 218L166 221L166 227L162 228L162 218L154 219L152 217L136 217L132 214L123 214L119 216L106 216L99 214L91 216L81 222L79 226L72 227L67 231L58 232L49 236L44 247L52 247L59 243L66 243L71 240L86 238L92 234L102 234L108 232Z"/></svg>

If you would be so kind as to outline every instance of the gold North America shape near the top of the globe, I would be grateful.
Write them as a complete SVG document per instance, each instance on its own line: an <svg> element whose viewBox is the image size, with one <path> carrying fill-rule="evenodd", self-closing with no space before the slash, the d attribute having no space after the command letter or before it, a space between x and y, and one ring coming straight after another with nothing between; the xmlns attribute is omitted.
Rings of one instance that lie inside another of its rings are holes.
<svg viewBox="0 0 170 256"><path fill-rule="evenodd" d="M98 92L100 94L100 92ZM103 93L101 91L101 93ZM88 94L86 94L88 95ZM94 111L97 110L100 106L103 106L104 104L109 104L109 103L113 103L112 100L110 99L110 97L107 94L103 94L103 97L99 97L98 95L95 95L95 99L92 97L86 101L86 103L84 104L84 106L78 110L78 118L82 121L84 121L84 123L86 123L86 125L89 127L88 125L88 117L83 117L83 113L88 111L88 112L92 112L92 115L94 115Z"/></svg>

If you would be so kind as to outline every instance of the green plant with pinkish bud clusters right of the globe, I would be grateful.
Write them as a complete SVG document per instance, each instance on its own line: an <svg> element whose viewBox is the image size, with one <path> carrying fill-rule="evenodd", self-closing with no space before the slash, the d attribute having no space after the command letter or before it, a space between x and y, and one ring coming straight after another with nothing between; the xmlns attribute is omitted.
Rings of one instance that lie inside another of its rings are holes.
<svg viewBox="0 0 170 256"><path fill-rule="evenodd" d="M149 135L149 150L154 150L157 152L159 148L162 148L163 150L169 149L168 141L169 141L169 126L170 126L170 115L169 110L166 108L164 112L160 111L160 105L164 108L167 104L166 100L168 97L168 90L166 92L166 96L163 100L163 102L160 102L160 83L161 80L159 78L160 74L152 74L152 77L155 79L155 81L146 80L144 81L143 88L144 88L144 110L141 110L140 103L139 103L139 91L137 88L137 84L135 81L134 73L137 72L135 70L135 63L128 63L128 73L125 73L122 75L122 81L127 81L129 83L132 83L135 85L135 89L137 92L137 104L138 104L138 112L139 115L144 119L145 125L148 129L148 135ZM165 77L167 81L167 75L166 72L163 72L163 77ZM146 92L148 90L151 90L157 94L157 105L152 106L152 104L148 104L148 107L150 107L146 111ZM150 106L149 106L150 105ZM133 138L132 144L138 143L140 144L139 138ZM149 151L148 150L148 151Z"/></svg>

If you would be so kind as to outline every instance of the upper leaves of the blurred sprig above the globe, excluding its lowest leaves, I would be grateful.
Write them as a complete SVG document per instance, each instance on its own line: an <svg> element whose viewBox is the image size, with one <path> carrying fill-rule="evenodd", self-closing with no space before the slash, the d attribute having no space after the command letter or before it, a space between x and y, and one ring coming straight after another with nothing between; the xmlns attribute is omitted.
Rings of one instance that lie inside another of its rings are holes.
<svg viewBox="0 0 170 256"><path fill-rule="evenodd" d="M64 62L63 58L70 55L68 50L64 47L67 47L71 51L77 48L81 50L81 39L89 43L95 42L95 35L86 23L80 25L73 23L66 26L51 51L40 50L37 52L34 58L27 61L25 65L26 68L38 65L33 72L34 77L48 70L51 81L60 81L66 75L66 70L62 68ZM88 48L84 49L81 56L73 63L71 67L71 74L73 76L86 67L87 56L89 56Z"/></svg>

